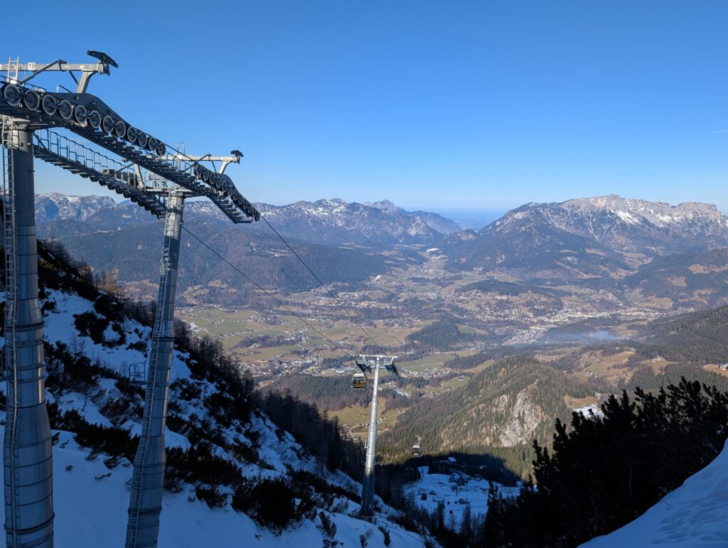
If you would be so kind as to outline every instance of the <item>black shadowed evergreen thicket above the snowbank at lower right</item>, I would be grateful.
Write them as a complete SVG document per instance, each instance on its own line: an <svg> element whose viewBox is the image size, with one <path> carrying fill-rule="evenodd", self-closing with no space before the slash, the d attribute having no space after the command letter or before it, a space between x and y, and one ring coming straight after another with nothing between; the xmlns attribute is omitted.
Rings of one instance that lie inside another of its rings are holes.
<svg viewBox="0 0 728 548"><path fill-rule="evenodd" d="M710 463L728 436L728 394L684 378L612 396L601 410L557 421L552 449L534 443L537 488L515 500L491 489L480 545L567 548L614 531Z"/></svg>

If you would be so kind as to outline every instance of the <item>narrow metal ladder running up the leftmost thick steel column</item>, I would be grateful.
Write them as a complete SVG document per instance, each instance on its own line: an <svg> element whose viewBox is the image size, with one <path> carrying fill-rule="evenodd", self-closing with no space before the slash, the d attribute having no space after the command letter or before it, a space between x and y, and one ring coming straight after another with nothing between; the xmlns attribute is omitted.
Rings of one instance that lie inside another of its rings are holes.
<svg viewBox="0 0 728 548"><path fill-rule="evenodd" d="M9 522L12 523L12 545L17 545L17 488L15 485L15 440L17 437L17 370L15 349L15 311L17 300L17 261L15 237L15 183L13 180L13 147L17 142L15 124L7 116L2 116L2 181L0 191L3 199L3 222L5 240L5 370L7 379L7 405L5 428L10 433L5 434L9 446L4 447L4 458L9 469L9 485L5 488L5 500L10 500ZM9 465L9 466L8 466ZM7 503L6 503L7 504ZM7 506L6 506L7 508Z"/></svg>

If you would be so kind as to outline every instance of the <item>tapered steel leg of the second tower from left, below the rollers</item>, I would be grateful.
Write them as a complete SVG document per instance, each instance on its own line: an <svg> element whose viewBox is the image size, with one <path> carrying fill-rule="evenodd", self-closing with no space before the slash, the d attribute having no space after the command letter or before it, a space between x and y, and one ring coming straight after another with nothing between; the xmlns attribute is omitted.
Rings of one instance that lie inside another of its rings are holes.
<svg viewBox="0 0 728 548"><path fill-rule="evenodd" d="M127 548L156 547L159 534L159 514L162 512L165 481L165 423L175 336L174 308L184 197L184 191L180 188L174 188L167 196L159 297L149 352L142 434L134 459Z"/></svg>

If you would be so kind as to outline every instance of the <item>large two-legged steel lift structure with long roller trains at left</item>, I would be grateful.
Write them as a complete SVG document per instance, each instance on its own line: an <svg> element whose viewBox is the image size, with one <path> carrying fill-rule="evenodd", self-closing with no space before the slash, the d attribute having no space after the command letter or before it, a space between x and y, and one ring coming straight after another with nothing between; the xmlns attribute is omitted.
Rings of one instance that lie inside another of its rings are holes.
<svg viewBox="0 0 728 548"><path fill-rule="evenodd" d="M69 64L60 59L48 64L20 63L18 59L0 64L0 190L7 282L3 468L9 548L53 546L52 444L45 406L33 158L106 186L157 218L165 217L146 405L132 475L127 548L157 546L184 201L204 196L233 223L260 219L260 213L224 174L229 163L240 162L240 152L220 157L188 156L132 126L103 100L87 93L92 76L108 75L111 66L118 66L102 52L87 53L98 63ZM29 83L41 73L54 71L71 74L76 91L63 88L65 92L49 92ZM29 76L21 79L21 74ZM95 148L69 138L71 133ZM102 154L100 148L112 156ZM218 170L214 163L213 170L203 163L213 160L222 162Z"/></svg>

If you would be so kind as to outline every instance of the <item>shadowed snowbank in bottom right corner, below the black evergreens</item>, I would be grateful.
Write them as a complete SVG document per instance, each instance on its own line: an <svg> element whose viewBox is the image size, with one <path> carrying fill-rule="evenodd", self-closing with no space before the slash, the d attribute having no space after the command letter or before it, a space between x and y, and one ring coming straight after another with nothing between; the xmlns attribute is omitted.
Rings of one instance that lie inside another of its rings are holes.
<svg viewBox="0 0 728 548"><path fill-rule="evenodd" d="M621 529L582 544L588 548L718 548L728 546L728 448L681 487Z"/></svg>

